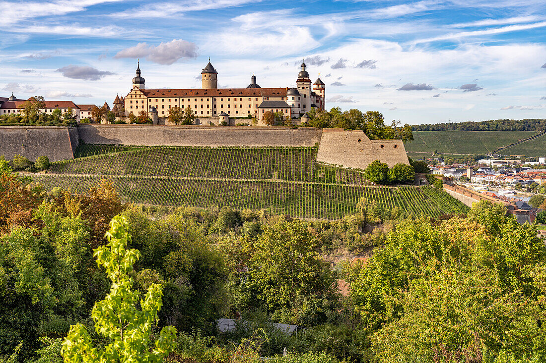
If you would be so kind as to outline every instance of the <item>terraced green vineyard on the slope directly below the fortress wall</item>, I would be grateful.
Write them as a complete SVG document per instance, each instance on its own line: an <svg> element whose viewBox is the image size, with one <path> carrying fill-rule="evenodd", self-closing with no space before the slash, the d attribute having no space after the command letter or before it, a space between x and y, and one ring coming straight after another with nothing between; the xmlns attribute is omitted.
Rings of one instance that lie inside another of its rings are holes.
<svg viewBox="0 0 546 363"><path fill-rule="evenodd" d="M430 186L367 185L355 171L318 165L317 148L150 147L118 151L86 145L74 160L34 176L46 189L85 192L111 179L123 201L198 208L268 209L308 219L340 219L369 205L439 217L468 208ZM93 151L94 150L94 151Z"/></svg>

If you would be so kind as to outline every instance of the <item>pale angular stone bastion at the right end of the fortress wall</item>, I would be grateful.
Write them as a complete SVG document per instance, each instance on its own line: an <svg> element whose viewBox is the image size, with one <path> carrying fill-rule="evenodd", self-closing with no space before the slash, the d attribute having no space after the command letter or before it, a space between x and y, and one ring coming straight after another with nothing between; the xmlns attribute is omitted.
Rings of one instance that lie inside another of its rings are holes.
<svg viewBox="0 0 546 363"><path fill-rule="evenodd" d="M401 140L370 140L364 131L324 129L318 146L317 161L346 168L365 169L373 160L410 164Z"/></svg>

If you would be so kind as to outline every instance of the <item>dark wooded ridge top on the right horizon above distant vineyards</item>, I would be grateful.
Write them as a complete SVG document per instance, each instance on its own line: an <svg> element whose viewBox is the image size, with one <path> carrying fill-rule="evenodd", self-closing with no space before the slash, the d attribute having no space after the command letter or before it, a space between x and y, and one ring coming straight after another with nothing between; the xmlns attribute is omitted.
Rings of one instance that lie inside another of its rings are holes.
<svg viewBox="0 0 546 363"><path fill-rule="evenodd" d="M546 131L545 119L489 120L482 122L449 122L412 126L413 131Z"/></svg>

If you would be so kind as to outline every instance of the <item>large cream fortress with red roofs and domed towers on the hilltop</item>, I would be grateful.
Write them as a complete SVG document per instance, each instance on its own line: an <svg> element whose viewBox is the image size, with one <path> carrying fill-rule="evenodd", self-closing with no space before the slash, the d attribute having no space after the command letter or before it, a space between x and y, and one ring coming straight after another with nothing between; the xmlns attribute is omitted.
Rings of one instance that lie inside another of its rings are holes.
<svg viewBox="0 0 546 363"><path fill-rule="evenodd" d="M218 88L218 72L209 59L201 71L201 88L187 89L147 89L138 64L133 87L121 100L127 116L146 111L165 118L170 108L190 107L198 118L216 119L226 114L232 118L250 115L261 120L268 111L282 112L285 118L299 118L312 108L324 110L324 95L324 82L318 78L311 84L305 63L301 64L296 88L262 88L255 75L246 88Z"/></svg>

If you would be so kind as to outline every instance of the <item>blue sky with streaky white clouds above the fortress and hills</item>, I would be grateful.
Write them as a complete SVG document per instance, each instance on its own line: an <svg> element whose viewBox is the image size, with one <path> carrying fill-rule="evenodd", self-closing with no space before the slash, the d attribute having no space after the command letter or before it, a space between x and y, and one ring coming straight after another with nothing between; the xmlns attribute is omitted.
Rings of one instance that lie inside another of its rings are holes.
<svg viewBox="0 0 546 363"><path fill-rule="evenodd" d="M292 87L402 124L546 118L544 0L0 0L0 96L112 106L146 88Z"/></svg>

